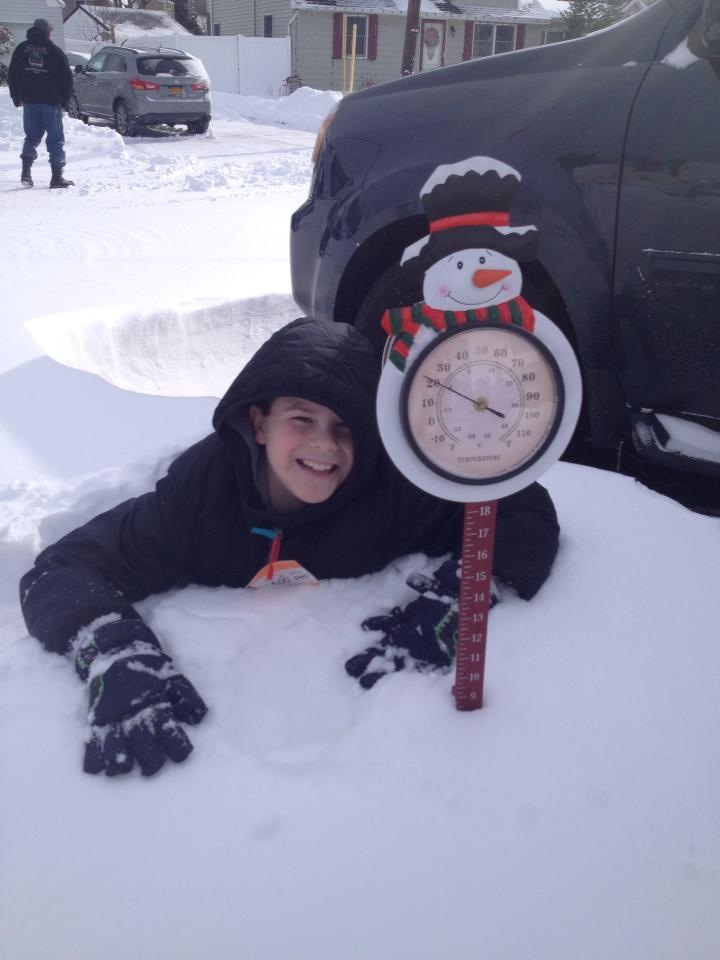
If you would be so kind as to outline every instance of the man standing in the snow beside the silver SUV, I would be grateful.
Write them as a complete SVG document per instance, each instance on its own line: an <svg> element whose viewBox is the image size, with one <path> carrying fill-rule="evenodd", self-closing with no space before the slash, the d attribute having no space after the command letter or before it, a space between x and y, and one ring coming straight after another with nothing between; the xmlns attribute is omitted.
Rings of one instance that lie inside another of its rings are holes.
<svg viewBox="0 0 720 960"><path fill-rule="evenodd" d="M20 182L33 186L30 169L37 160L37 148L46 138L52 178L50 186L71 187L72 180L63 177L65 167L65 134L62 111L67 110L73 90L73 76L65 53L50 39L52 26L39 18L27 31L27 39L13 51L8 68L10 97L16 107L23 108L25 142L20 159Z"/></svg>

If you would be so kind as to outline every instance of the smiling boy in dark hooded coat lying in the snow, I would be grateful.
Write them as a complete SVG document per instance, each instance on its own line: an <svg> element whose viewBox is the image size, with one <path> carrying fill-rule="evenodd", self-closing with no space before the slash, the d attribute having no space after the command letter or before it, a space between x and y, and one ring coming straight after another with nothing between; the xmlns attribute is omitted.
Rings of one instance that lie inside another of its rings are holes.
<svg viewBox="0 0 720 960"><path fill-rule="evenodd" d="M135 601L191 582L357 577L405 554L459 551L462 505L412 486L382 450L378 367L353 327L288 324L229 388L215 432L181 454L154 492L69 533L22 578L30 634L70 656L89 686L86 771L125 773L137 759L152 774L166 756L184 760L192 746L180 723L206 712ZM538 484L500 502L494 573L521 597L540 588L557 543L555 511ZM373 618L369 628L386 635L346 665L365 687L406 663L451 662L438 625L450 622L454 634L457 563L411 585L425 595Z"/></svg>

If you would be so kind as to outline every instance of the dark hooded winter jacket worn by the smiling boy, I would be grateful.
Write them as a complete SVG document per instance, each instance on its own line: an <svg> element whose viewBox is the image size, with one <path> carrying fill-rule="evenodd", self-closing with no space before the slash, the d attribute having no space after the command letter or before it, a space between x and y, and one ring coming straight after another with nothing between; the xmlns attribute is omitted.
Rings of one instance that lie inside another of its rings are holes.
<svg viewBox="0 0 720 960"><path fill-rule="evenodd" d="M390 463L375 423L378 361L340 323L297 320L271 337L218 405L215 432L182 453L152 493L95 517L45 549L21 581L30 634L66 652L78 630L186 583L245 587L282 530L280 559L318 579L359 577L416 551L459 550L463 507L412 486ZM350 427L354 462L324 503L278 515L264 504L264 450L248 406L294 396L330 407ZM552 501L538 484L500 502L495 573L525 598L548 576L558 545Z"/></svg>

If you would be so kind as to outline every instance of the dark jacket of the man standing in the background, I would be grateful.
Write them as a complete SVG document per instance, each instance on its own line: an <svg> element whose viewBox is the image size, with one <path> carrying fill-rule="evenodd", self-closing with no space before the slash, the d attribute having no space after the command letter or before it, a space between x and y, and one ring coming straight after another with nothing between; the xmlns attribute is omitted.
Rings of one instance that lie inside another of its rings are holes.
<svg viewBox="0 0 720 960"><path fill-rule="evenodd" d="M63 50L36 27L27 31L13 50L8 67L10 98L21 103L45 103L67 109L73 91L73 75Z"/></svg>

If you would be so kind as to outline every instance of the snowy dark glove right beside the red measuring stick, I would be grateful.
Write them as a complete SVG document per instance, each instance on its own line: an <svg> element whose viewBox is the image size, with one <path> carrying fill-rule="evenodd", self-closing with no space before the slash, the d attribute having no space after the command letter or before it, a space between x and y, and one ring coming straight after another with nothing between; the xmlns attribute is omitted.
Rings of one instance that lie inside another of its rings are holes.
<svg viewBox="0 0 720 960"><path fill-rule="evenodd" d="M385 674L405 667L422 671L450 667L457 643L460 569L461 560L453 556L432 577L411 573L408 586L420 596L405 607L363 621L363 630L381 631L383 636L345 664L360 686L369 690ZM490 606L499 599L493 582Z"/></svg>

